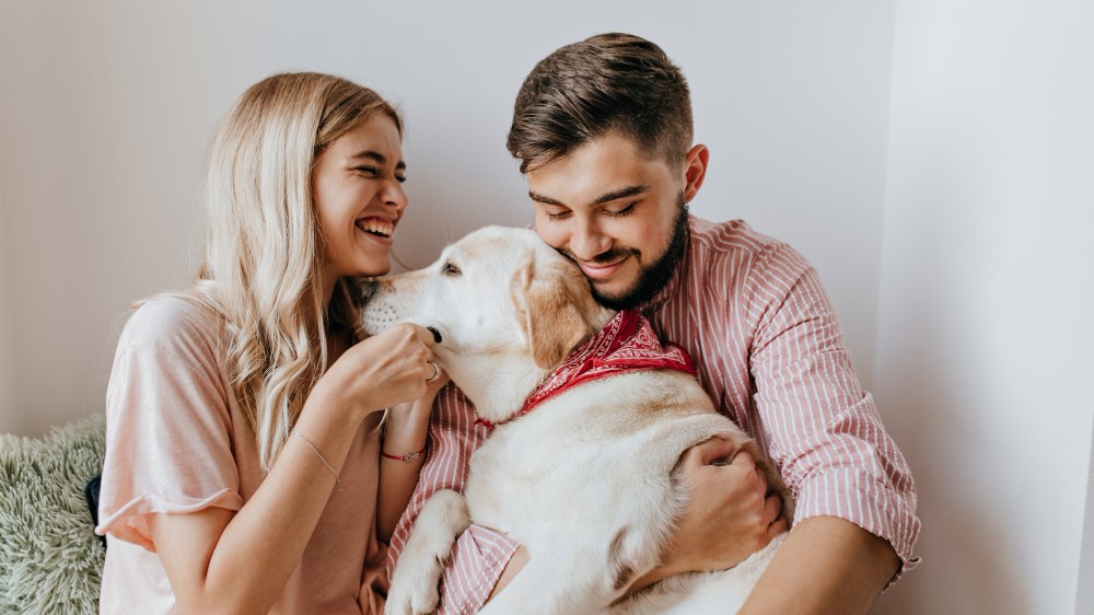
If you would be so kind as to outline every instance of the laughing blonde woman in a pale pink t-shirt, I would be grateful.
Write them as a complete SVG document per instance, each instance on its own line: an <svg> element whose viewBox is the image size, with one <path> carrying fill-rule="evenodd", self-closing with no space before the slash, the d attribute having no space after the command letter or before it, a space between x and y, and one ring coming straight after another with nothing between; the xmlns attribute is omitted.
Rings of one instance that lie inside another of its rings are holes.
<svg viewBox="0 0 1094 615"><path fill-rule="evenodd" d="M428 330L365 339L352 302L391 267L405 172L395 109L338 78L270 77L224 119L197 279L118 343L103 613L383 610L446 381Z"/></svg>

